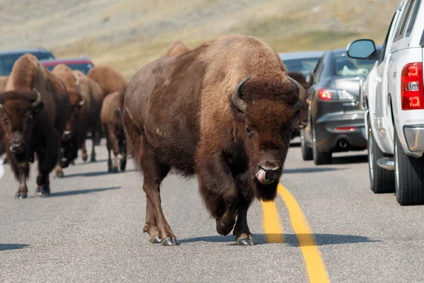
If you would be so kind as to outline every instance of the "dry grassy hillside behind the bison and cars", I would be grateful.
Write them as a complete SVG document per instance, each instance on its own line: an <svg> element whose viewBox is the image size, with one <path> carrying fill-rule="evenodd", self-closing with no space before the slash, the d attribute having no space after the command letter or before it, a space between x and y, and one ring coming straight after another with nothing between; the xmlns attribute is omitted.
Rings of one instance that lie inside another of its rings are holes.
<svg viewBox="0 0 424 283"><path fill-rule="evenodd" d="M263 38L277 52L382 42L399 0L0 0L0 49L42 46L86 54L130 78L170 43L219 35Z"/></svg>

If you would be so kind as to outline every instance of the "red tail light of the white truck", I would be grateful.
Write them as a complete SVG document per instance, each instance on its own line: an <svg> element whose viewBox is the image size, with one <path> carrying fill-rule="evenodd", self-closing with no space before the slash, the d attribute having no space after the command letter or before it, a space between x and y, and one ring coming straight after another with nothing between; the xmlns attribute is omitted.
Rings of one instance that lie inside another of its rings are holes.
<svg viewBox="0 0 424 283"><path fill-rule="evenodd" d="M410 63L401 74L402 110L424 109L423 63Z"/></svg>

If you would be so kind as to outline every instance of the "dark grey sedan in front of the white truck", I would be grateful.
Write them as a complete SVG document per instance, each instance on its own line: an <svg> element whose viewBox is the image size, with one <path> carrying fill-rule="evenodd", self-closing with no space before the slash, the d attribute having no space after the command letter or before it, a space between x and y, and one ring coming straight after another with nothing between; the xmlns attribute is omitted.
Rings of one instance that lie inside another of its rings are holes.
<svg viewBox="0 0 424 283"><path fill-rule="evenodd" d="M333 152L367 148L358 95L360 79L374 64L349 58L346 49L329 50L319 59L310 77L307 126L300 132L303 160L328 164Z"/></svg>

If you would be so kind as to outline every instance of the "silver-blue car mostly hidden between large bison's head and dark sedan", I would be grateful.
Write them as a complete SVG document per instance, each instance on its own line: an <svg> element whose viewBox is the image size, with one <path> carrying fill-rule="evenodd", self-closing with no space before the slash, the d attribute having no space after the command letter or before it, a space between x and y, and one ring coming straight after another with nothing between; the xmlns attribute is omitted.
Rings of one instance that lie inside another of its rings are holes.
<svg viewBox="0 0 424 283"><path fill-rule="evenodd" d="M310 71L315 69L322 54L324 54L324 51L278 53L288 71L298 71L307 80L309 79Z"/></svg>

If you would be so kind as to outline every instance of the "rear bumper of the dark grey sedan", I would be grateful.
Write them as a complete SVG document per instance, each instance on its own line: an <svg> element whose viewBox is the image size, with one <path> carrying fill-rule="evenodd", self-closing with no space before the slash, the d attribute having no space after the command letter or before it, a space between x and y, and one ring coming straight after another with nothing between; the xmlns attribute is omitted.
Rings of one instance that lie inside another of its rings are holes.
<svg viewBox="0 0 424 283"><path fill-rule="evenodd" d="M319 151L337 152L366 149L367 132L364 114L363 111L331 113L317 120L315 133Z"/></svg>

